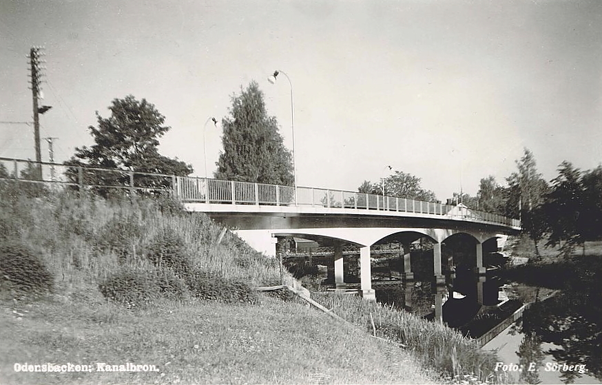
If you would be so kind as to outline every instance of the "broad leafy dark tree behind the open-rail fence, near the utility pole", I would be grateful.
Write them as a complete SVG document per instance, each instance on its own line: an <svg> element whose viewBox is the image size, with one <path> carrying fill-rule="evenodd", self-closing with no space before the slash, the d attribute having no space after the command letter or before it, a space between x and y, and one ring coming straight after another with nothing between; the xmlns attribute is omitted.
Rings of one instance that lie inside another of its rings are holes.
<svg viewBox="0 0 602 385"><path fill-rule="evenodd" d="M190 165L176 159L167 158L158 152L158 138L171 127L165 125L165 116L146 99L137 101L134 96L116 98L109 107L111 116L103 118L96 112L98 128L88 127L96 144L92 147L76 147L75 155L65 165L87 165L106 167L124 171L148 172L176 176L186 176L193 171ZM76 180L76 171L68 173ZM98 185L124 185L129 178L126 174L105 171L87 171ZM167 187L167 180L141 178L136 180L138 187Z"/></svg>

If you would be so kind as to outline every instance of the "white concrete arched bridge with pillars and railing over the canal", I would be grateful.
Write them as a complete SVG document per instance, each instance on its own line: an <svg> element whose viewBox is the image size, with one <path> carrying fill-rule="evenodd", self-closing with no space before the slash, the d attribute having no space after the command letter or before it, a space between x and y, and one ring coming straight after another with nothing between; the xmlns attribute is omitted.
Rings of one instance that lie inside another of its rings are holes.
<svg viewBox="0 0 602 385"><path fill-rule="evenodd" d="M276 256L278 240L313 240L334 248L335 284L344 287L343 246L360 251L360 292L374 299L371 247L386 242L403 245L405 280L413 279L410 244L426 237L433 243L435 281L444 283L442 244L455 236L469 236L474 244L474 268L485 273L484 244L517 233L520 221L468 209L362 194L355 191L264 185L209 178L177 177L174 194L187 211L201 211L236 229L251 247Z"/></svg>

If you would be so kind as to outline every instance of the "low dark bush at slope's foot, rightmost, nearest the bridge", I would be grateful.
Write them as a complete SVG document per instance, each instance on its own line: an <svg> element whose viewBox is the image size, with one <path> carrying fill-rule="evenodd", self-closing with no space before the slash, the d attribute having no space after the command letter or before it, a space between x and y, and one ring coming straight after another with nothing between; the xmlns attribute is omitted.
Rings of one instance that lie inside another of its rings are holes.
<svg viewBox="0 0 602 385"><path fill-rule="evenodd" d="M205 271L193 271L186 283L191 295L207 301L256 303L258 295L245 282L211 275Z"/></svg>

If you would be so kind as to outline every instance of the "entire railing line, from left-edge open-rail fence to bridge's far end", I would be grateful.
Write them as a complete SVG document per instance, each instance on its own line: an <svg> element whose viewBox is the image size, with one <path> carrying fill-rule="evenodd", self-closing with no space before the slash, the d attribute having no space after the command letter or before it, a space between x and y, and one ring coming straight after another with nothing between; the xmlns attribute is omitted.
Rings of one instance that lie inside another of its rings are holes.
<svg viewBox="0 0 602 385"><path fill-rule="evenodd" d="M33 162L1 158L0 182L16 181L36 185L71 186L87 189L121 189L135 194L141 191L166 191L181 202L231 205L294 206L295 188L263 183L236 182L190 176L152 174L121 169ZM364 194L356 191L297 187L298 206L332 209L395 211L440 218L469 220L505 225L519 229L520 220L498 214L435 202L423 202L395 196Z"/></svg>

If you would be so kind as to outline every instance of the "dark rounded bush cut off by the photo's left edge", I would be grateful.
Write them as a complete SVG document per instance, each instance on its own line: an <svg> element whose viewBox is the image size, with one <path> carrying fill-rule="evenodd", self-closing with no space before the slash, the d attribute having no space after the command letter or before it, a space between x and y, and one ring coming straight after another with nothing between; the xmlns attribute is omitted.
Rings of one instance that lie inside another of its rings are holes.
<svg viewBox="0 0 602 385"><path fill-rule="evenodd" d="M19 242L3 242L0 246L1 287L25 293L41 293L52 289L54 279L41 258Z"/></svg>

